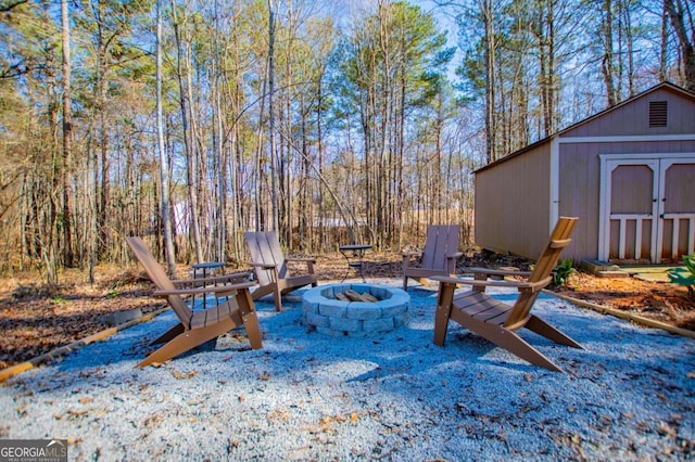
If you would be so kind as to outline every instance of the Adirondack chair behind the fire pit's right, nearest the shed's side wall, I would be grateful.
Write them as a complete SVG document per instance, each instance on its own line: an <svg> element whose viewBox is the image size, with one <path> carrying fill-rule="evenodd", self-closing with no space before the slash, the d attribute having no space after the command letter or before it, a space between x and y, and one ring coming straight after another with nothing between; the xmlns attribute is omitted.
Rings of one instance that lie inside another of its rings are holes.
<svg viewBox="0 0 695 462"><path fill-rule="evenodd" d="M408 288L408 278L427 285L427 278L452 275L456 270L456 259L463 254L458 246L458 224L431 224L427 228L425 248L421 252L403 253L403 290ZM414 267L413 258L422 256L421 265Z"/></svg>

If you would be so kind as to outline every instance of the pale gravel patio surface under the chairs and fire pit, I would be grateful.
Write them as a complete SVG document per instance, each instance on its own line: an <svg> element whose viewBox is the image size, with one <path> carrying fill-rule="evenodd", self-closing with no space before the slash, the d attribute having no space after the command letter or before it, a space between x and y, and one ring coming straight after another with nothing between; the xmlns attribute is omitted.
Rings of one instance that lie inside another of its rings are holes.
<svg viewBox="0 0 695 462"><path fill-rule="evenodd" d="M542 295L534 312L586 348L522 332L555 373L453 323L433 345L434 288L412 287L409 325L368 338L307 332L298 291L281 313L256 304L261 350L236 331L135 369L166 312L10 380L0 437L66 438L71 460L695 457L695 341Z"/></svg>

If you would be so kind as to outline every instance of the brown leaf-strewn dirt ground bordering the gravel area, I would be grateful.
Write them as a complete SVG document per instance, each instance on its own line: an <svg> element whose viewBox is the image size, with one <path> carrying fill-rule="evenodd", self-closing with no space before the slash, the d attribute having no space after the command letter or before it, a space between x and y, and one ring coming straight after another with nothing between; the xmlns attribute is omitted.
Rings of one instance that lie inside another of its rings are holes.
<svg viewBox="0 0 695 462"><path fill-rule="evenodd" d="M528 261L496 255L471 253L458 261L458 271L473 266L528 269ZM188 267L179 267L185 277ZM348 265L340 255L317 258L319 281L341 280ZM78 270L64 271L60 284L48 286L37 272L0 279L0 369L29 360L60 346L85 338L109 326L114 311L139 308L148 313L164 307L151 297L152 285L140 267L128 269L101 266L93 284ZM367 258L367 278L400 278L400 254L371 255ZM349 278L355 278L354 269ZM669 283L644 282L633 278L603 279L576 273L566 295L610 308L629 310L645 318L695 331L695 301L685 287Z"/></svg>

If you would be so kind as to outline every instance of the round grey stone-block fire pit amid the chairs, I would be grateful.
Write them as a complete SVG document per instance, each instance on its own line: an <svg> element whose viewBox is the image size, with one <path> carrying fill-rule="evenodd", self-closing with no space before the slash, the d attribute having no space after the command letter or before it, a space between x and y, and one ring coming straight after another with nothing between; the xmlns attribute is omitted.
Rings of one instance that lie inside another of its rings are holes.
<svg viewBox="0 0 695 462"><path fill-rule="evenodd" d="M377 301L336 298L348 291L368 294ZM406 325L409 305L410 296L401 288L365 283L320 285L302 296L302 322L324 334L367 336Z"/></svg>

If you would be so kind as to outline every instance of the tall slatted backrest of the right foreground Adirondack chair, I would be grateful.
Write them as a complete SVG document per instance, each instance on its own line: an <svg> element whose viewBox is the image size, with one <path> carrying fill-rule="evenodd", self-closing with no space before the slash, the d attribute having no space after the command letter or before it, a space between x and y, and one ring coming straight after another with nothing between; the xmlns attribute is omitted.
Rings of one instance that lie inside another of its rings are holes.
<svg viewBox="0 0 695 462"><path fill-rule="evenodd" d="M559 218L551 234L549 242L533 267L529 282L539 282L551 275L551 271L553 271L555 265L557 265L557 260L560 258L560 254L572 241L570 235L578 220L578 218L573 217ZM514 305L514 309L504 323L505 328L518 329L523 326L529 319L531 307L533 307L539 295L540 291L522 291Z"/></svg>

